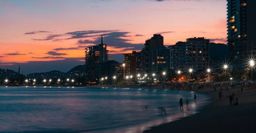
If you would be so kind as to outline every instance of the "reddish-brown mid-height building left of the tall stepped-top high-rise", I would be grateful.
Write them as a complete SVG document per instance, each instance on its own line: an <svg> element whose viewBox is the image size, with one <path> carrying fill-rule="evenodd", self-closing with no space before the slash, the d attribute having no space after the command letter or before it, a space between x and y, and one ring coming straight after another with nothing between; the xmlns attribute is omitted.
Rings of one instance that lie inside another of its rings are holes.
<svg viewBox="0 0 256 133"><path fill-rule="evenodd" d="M125 75L136 74L137 55L138 55L138 52L136 52L136 51L133 51L132 53L124 54Z"/></svg>

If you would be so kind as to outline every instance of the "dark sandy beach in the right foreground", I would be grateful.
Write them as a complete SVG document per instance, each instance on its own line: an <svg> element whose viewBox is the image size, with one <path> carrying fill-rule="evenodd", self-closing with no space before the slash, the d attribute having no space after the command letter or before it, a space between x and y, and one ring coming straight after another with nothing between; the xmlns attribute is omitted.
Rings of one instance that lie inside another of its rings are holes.
<svg viewBox="0 0 256 133"><path fill-rule="evenodd" d="M144 133L256 133L256 86L244 86L243 93L240 88L222 90L221 100L220 88L215 92L213 88L193 90L210 95L212 103L196 115L152 127ZM224 98L233 92L239 105L229 105L229 98Z"/></svg>

